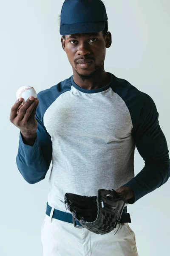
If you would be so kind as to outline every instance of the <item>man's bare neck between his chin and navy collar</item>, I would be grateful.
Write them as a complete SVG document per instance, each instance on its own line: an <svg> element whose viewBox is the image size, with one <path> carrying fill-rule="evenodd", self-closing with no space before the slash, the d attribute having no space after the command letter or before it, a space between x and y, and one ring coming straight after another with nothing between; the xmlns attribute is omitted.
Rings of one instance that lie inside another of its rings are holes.
<svg viewBox="0 0 170 256"><path fill-rule="evenodd" d="M73 74L75 84L86 90L94 90L105 87L111 80L110 74L105 72L104 69L102 71L96 70L94 75L91 77L81 77L75 70L73 70Z"/></svg>

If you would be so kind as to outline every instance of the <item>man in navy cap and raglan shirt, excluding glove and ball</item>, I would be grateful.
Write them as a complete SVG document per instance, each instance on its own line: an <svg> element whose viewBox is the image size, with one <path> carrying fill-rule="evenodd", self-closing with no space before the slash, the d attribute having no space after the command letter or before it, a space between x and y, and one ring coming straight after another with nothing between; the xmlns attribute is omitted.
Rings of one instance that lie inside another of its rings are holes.
<svg viewBox="0 0 170 256"><path fill-rule="evenodd" d="M134 204L170 177L155 103L104 69L111 47L107 20L101 0L66 0L60 34L73 76L23 105L19 99L11 109L10 120L20 129L17 166L24 179L30 184L44 179L52 160L41 229L44 256L137 256L127 223L104 236L78 221L76 228L64 195L94 196L98 189L113 188ZM136 177L135 147L145 161Z"/></svg>

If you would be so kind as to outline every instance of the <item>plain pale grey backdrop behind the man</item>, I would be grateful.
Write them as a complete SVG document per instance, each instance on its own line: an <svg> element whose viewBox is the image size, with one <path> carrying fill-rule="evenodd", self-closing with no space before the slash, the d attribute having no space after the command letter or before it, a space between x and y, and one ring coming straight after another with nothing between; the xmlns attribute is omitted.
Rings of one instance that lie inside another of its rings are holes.
<svg viewBox="0 0 170 256"><path fill-rule="evenodd" d="M63 0L0 1L0 255L42 256L48 177L30 185L16 166L19 129L9 122L15 93L37 93L72 75L62 50L59 15ZM105 70L128 80L156 103L170 148L170 1L104 0L113 43ZM135 174L144 166L138 151ZM139 256L168 255L170 182L128 209ZM76 255L75 255L76 256Z"/></svg>

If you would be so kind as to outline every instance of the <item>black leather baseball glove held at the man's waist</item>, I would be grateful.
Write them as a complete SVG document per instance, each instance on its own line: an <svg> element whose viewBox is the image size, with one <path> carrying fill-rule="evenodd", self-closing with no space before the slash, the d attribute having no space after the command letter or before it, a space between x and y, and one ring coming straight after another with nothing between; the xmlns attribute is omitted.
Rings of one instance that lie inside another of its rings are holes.
<svg viewBox="0 0 170 256"><path fill-rule="evenodd" d="M97 196L90 197L66 193L64 199L73 218L91 232L101 235L111 232L121 223L123 209L128 204L123 195L113 189L99 189Z"/></svg>

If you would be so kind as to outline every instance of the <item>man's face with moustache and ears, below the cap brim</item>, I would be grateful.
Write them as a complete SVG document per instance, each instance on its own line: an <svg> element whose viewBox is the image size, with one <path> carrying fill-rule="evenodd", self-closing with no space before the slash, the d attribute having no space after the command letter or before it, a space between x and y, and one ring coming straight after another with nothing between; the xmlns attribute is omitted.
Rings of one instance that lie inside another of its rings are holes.
<svg viewBox="0 0 170 256"><path fill-rule="evenodd" d="M106 48L111 46L111 33L108 32L105 38L102 31L66 35L61 42L73 71L79 76L90 77L104 68Z"/></svg>

